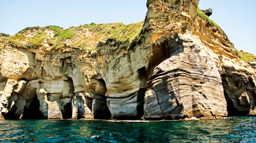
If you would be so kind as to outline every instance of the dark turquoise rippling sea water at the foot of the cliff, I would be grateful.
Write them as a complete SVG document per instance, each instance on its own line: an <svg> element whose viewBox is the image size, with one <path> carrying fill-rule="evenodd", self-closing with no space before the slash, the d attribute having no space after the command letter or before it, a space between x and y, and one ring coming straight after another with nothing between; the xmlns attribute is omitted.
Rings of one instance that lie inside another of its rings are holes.
<svg viewBox="0 0 256 143"><path fill-rule="evenodd" d="M255 142L256 116L202 121L0 120L0 142Z"/></svg>

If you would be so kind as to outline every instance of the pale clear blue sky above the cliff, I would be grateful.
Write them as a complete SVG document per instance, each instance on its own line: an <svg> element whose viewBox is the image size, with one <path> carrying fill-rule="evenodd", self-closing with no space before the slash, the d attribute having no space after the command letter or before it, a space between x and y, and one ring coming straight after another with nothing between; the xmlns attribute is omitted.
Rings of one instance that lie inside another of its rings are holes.
<svg viewBox="0 0 256 143"><path fill-rule="evenodd" d="M13 35L26 27L89 23L137 23L144 20L146 0L0 0L0 33ZM201 0L199 8L213 9L209 18L228 35L238 50L256 55L256 0Z"/></svg>

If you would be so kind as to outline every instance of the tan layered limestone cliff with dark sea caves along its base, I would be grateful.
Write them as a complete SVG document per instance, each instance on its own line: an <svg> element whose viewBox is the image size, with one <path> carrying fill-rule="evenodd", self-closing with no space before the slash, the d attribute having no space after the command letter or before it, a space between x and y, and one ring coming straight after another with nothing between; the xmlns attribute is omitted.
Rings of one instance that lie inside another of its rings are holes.
<svg viewBox="0 0 256 143"><path fill-rule="evenodd" d="M98 38L100 32L80 27L76 38L63 41L53 28L16 34L19 40L10 38L0 53L0 118L255 115L255 69L223 32L196 15L197 6L197 0L148 0L142 32L131 45L104 38L111 31ZM34 44L38 33L42 41ZM83 43L82 36L91 39ZM70 46L75 43L96 51Z"/></svg>

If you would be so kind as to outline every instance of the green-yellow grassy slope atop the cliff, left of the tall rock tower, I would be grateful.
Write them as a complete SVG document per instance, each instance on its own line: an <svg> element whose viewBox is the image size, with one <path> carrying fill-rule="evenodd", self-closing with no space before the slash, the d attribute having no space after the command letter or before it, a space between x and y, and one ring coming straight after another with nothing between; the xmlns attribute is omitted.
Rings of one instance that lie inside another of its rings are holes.
<svg viewBox="0 0 256 143"><path fill-rule="evenodd" d="M47 43L51 49L75 47L95 48L99 43L114 39L128 47L139 40L143 23L85 24L63 29L58 26L27 27L7 39L19 47L33 47Z"/></svg>

